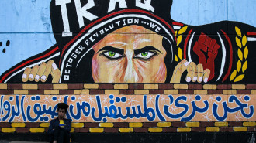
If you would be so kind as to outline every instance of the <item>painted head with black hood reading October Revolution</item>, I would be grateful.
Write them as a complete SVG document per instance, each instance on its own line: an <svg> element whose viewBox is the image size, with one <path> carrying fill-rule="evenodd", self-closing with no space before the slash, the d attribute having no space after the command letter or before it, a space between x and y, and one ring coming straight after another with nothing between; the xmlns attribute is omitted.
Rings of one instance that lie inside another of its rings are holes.
<svg viewBox="0 0 256 143"><path fill-rule="evenodd" d="M84 22L78 22L77 7L68 4L70 29L61 26L63 12L53 1L51 19L61 51L61 83L170 82L176 54L168 14L171 0L122 1L127 6L121 7L115 6L118 2L94 1L88 15L83 15ZM92 14L97 16L88 19Z"/></svg>

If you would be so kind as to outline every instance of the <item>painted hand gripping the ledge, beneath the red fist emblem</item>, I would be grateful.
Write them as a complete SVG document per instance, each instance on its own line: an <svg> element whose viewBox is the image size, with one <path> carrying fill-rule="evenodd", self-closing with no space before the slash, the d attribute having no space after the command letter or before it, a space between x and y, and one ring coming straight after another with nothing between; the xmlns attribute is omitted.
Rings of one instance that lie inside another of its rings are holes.
<svg viewBox="0 0 256 143"><path fill-rule="evenodd" d="M182 73L187 70L187 76L185 80L189 82L198 82L202 83L208 82L210 70L206 69L203 70L202 64L196 65L194 62L189 63L187 60L182 60L178 65L175 67L173 75L171 77L171 83L181 83Z"/></svg>

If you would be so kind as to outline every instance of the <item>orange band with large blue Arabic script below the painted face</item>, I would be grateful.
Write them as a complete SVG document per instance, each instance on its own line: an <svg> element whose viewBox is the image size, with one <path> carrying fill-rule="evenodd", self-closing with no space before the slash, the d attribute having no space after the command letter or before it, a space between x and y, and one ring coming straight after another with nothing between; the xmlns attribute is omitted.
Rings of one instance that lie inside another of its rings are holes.
<svg viewBox="0 0 256 143"><path fill-rule="evenodd" d="M247 95L13 95L0 98L3 122L49 122L57 103L74 122L255 121L255 96Z"/></svg>

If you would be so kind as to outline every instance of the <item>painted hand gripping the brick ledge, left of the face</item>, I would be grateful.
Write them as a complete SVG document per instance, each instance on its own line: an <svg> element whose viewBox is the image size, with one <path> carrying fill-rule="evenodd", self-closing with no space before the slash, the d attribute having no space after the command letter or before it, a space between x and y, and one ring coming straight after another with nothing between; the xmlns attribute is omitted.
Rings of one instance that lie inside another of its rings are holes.
<svg viewBox="0 0 256 143"><path fill-rule="evenodd" d="M41 63L40 66L33 66L31 69L27 67L22 75L22 81L27 82L35 80L38 82L46 82L49 75L53 77L52 83L58 83L61 78L61 71L58 69L57 65L54 63L54 60L49 60L47 63ZM28 76L29 75L29 76Z"/></svg>

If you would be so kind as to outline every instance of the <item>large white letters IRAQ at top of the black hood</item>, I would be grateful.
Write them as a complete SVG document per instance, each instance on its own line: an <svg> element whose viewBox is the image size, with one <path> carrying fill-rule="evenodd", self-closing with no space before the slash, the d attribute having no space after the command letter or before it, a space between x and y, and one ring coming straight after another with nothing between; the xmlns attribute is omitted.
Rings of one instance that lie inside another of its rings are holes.
<svg viewBox="0 0 256 143"><path fill-rule="evenodd" d="M67 5L70 3L71 0L55 1L56 6L61 6L61 15L64 26L64 32L62 33L63 37L72 36L72 32L70 30L70 23L67 15ZM126 0L109 0L108 13L115 10L116 5L118 5L119 8L128 8ZM144 0L144 2L142 2L141 0L135 0L135 5L138 8L154 12L154 7L151 5L151 0ZM85 4L84 6L81 6L81 0L74 0L74 6L78 15L79 28L85 26L84 18L90 21L98 18L97 15L93 14L92 12L88 12L88 9L95 7L94 0L88 0L87 4Z"/></svg>

